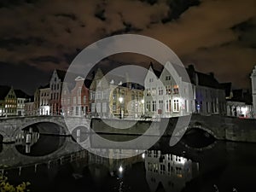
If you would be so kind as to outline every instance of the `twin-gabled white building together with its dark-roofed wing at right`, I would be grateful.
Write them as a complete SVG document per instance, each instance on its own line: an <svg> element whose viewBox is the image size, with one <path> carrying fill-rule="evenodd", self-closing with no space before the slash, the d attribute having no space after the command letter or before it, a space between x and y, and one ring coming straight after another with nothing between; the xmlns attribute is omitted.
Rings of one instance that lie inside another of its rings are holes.
<svg viewBox="0 0 256 192"><path fill-rule="evenodd" d="M188 113L226 113L225 91L213 73L196 72L190 65L187 68L191 81L189 86L189 83L177 75L174 78L168 73L170 70L166 70L166 67L170 66L172 69L172 65L166 63L160 75L156 75L159 72L155 72L150 66L144 82L145 113L152 117L175 117Z"/></svg>

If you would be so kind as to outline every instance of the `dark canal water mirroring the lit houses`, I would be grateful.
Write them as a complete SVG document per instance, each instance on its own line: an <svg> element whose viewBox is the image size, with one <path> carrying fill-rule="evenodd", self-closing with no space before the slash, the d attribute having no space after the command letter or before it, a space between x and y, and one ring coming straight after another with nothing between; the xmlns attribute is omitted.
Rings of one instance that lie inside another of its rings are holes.
<svg viewBox="0 0 256 192"><path fill-rule="evenodd" d="M40 157L53 153L65 140L49 135L33 138L36 142L32 146L16 143L17 151L31 158ZM4 175L9 183L29 181L32 192L256 191L256 144L215 141L201 132L183 137L173 147L169 140L162 137L152 148L128 159L102 158L81 150L50 165L45 160L37 166L23 162L21 169L8 167ZM8 144L0 149L4 145ZM96 150L111 157L121 149ZM140 149L121 151L132 154L136 150Z"/></svg>

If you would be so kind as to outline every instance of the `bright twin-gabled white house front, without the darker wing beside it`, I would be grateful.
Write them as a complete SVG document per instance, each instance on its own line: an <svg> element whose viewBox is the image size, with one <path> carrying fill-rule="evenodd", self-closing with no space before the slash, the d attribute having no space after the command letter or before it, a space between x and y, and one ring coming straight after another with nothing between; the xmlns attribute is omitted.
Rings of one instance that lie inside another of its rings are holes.
<svg viewBox="0 0 256 192"><path fill-rule="evenodd" d="M154 71L152 65L148 69L144 81L145 113L148 116L168 118L192 113L195 110L192 86L190 85L189 89L189 83L182 81L177 74L176 82L169 71L174 71L169 62L160 73L160 78L157 77L158 72ZM180 91L183 91L183 94Z"/></svg>

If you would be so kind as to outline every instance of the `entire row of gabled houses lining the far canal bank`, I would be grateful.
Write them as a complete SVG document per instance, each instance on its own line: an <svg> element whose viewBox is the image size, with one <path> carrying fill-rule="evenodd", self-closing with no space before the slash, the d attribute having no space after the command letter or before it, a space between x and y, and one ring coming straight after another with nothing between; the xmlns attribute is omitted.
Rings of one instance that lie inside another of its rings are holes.
<svg viewBox="0 0 256 192"><path fill-rule="evenodd" d="M213 73L197 72L193 65L186 68L191 82L189 90L189 83L174 79L168 67L172 65L166 63L162 69L155 70L151 63L143 85L131 82L128 75L106 75L98 68L91 79L73 75L71 84L63 83L65 71L55 70L49 84L39 87L32 97L21 90L0 86L0 116L67 115L133 119L201 113L253 118L252 94L248 91L232 90L231 83L220 84ZM256 77L254 73L252 82L256 79L253 78ZM182 91L185 94L181 94Z"/></svg>

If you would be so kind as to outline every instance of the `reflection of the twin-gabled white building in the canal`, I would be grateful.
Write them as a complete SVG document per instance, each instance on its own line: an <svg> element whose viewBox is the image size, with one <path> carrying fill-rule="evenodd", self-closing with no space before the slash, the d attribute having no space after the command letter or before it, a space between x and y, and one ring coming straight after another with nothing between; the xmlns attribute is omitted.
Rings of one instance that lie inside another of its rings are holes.
<svg viewBox="0 0 256 192"><path fill-rule="evenodd" d="M161 154L160 150L147 151L145 169L151 191L161 187L166 191L181 191L199 171L198 163L174 154Z"/></svg>

